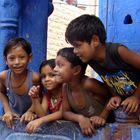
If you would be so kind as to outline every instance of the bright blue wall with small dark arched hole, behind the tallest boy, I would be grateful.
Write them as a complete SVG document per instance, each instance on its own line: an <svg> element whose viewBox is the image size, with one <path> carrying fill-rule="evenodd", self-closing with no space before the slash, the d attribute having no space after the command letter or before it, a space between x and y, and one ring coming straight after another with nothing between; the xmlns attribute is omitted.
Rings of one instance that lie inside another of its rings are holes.
<svg viewBox="0 0 140 140"><path fill-rule="evenodd" d="M99 16L106 27L108 41L122 43L140 53L139 0L99 0Z"/></svg>

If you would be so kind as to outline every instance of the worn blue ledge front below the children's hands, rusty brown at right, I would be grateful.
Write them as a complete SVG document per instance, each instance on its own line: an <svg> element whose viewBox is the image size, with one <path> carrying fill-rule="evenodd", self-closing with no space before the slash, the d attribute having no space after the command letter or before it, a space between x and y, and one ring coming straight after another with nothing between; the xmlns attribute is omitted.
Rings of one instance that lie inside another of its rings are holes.
<svg viewBox="0 0 140 140"><path fill-rule="evenodd" d="M42 125L34 134L27 134L26 123L14 121L12 129L0 121L1 140L139 140L140 126L128 124L107 124L92 137L84 136L78 125L69 121L56 121Z"/></svg>

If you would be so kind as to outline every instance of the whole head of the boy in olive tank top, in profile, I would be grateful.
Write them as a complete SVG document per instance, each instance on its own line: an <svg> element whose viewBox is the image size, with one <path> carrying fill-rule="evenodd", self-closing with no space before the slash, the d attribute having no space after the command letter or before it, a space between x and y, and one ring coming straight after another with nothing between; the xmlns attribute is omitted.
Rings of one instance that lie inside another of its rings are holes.
<svg viewBox="0 0 140 140"><path fill-rule="evenodd" d="M75 76L84 76L87 64L83 63L73 52L72 47L62 48L56 57L56 79L57 81L70 82Z"/></svg>

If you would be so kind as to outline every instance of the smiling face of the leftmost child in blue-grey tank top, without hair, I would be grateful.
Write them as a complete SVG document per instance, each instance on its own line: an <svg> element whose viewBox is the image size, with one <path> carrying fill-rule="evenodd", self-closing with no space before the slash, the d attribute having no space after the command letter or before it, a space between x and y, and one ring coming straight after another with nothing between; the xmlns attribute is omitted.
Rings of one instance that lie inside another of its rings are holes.
<svg viewBox="0 0 140 140"><path fill-rule="evenodd" d="M27 54L21 46L15 46L8 51L5 60L13 73L22 74L27 69L27 65L31 58L32 55Z"/></svg>

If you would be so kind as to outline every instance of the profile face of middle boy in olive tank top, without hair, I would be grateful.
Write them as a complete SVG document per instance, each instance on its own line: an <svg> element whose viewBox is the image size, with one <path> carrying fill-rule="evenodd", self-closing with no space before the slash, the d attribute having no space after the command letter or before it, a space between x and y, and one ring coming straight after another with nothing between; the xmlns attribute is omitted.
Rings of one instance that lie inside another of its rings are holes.
<svg viewBox="0 0 140 140"><path fill-rule="evenodd" d="M73 77L73 67L71 63L64 57L58 55L55 59L56 66L54 68L56 74L56 81L70 82Z"/></svg>

